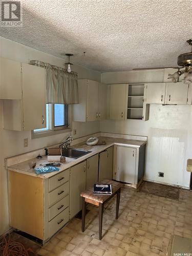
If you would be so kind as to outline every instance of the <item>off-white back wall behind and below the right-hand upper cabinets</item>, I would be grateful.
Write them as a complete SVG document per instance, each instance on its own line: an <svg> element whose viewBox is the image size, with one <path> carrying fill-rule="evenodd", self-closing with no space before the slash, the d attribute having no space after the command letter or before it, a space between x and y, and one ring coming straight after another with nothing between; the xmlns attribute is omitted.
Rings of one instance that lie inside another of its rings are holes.
<svg viewBox="0 0 192 256"><path fill-rule="evenodd" d="M166 81L175 70L150 70L102 73L103 83L144 83ZM164 79L165 77L165 79ZM145 178L157 182L189 187L186 162L192 153L191 105L150 104L148 121L104 120L100 132L147 136ZM164 178L158 177L164 172Z"/></svg>

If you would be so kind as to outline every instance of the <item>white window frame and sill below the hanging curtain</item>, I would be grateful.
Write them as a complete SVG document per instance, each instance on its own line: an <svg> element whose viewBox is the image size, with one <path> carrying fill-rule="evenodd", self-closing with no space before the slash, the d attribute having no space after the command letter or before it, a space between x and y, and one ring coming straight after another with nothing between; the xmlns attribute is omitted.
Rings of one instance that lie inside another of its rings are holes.
<svg viewBox="0 0 192 256"><path fill-rule="evenodd" d="M54 126L54 104L49 104L49 130L45 131L37 131L35 132L34 130L31 131L31 139L36 139L36 138L41 138L41 137L47 137L51 135L56 135L60 133L67 133L71 132L71 105L65 105L65 110L67 109L67 116L64 116L65 122L66 119L68 119L68 124L67 125L60 125L60 126ZM66 112L64 112L66 113ZM46 113L47 114L47 113Z"/></svg>

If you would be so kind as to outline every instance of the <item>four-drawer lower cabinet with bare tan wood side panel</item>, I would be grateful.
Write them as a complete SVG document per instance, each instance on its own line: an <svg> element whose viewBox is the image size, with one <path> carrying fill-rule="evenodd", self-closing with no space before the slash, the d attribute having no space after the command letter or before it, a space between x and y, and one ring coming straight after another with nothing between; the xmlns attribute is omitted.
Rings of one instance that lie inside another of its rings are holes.
<svg viewBox="0 0 192 256"><path fill-rule="evenodd" d="M10 226L41 243L49 240L69 221L69 173L43 179L9 170Z"/></svg>

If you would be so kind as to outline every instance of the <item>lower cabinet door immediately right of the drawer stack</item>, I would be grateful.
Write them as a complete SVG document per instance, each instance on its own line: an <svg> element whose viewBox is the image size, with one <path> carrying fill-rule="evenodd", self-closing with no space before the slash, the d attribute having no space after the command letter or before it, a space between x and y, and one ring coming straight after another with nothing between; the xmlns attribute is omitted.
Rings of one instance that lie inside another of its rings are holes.
<svg viewBox="0 0 192 256"><path fill-rule="evenodd" d="M86 189L86 161L71 167L70 219L82 209L81 192Z"/></svg>

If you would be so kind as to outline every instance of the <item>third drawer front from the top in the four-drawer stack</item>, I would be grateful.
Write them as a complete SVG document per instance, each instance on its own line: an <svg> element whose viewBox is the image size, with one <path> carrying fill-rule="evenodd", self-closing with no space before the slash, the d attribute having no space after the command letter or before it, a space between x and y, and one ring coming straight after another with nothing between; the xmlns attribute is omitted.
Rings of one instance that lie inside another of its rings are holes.
<svg viewBox="0 0 192 256"><path fill-rule="evenodd" d="M69 206L69 195L49 208L49 221Z"/></svg>

